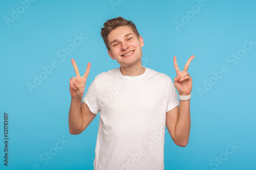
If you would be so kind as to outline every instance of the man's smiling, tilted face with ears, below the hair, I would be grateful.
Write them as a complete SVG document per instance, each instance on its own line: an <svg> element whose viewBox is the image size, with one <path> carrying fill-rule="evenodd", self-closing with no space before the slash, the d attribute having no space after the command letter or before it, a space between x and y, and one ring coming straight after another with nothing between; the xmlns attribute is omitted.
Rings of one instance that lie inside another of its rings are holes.
<svg viewBox="0 0 256 170"><path fill-rule="evenodd" d="M120 66L132 66L141 62L143 38L138 38L129 26L113 30L108 35L108 41L111 49L108 53Z"/></svg>

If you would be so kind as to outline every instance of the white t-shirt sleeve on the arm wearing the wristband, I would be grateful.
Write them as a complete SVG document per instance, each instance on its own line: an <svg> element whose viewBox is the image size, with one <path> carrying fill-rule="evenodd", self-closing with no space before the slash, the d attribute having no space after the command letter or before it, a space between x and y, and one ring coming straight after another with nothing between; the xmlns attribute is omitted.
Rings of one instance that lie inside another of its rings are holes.
<svg viewBox="0 0 256 170"><path fill-rule="evenodd" d="M168 102L167 102L166 112L174 109L178 105L179 105L179 100L178 100L177 91L175 89L173 81L170 79L169 95L168 95Z"/></svg>

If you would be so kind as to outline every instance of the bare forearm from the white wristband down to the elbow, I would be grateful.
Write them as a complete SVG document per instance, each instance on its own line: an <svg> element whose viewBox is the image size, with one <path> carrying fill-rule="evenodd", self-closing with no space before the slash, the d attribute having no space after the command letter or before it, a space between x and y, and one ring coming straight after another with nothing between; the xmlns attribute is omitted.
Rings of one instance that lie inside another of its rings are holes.
<svg viewBox="0 0 256 170"><path fill-rule="evenodd" d="M187 144L190 123L190 99L185 101L180 100L180 109L175 127L175 138L177 143L182 143L182 145Z"/></svg>

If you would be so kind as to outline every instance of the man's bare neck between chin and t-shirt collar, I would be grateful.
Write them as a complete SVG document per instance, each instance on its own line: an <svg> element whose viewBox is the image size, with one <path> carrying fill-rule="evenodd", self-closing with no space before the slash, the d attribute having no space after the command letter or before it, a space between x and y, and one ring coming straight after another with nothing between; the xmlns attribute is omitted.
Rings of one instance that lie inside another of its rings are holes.
<svg viewBox="0 0 256 170"><path fill-rule="evenodd" d="M121 66L120 71L123 76L139 76L145 72L145 68L140 65Z"/></svg>

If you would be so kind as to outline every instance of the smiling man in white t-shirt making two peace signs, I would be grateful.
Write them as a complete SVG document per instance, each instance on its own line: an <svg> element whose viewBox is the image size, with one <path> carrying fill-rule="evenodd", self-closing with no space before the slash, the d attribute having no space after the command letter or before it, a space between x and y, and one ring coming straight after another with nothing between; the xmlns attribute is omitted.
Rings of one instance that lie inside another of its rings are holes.
<svg viewBox="0 0 256 170"><path fill-rule="evenodd" d="M94 169L164 169L165 126L177 145L188 143L192 78L187 69L194 56L183 71L174 57L173 83L142 66L143 38L132 21L107 20L101 36L120 68L97 75L82 99L91 63L81 77L72 60L76 77L70 79L70 133L80 134L100 112Z"/></svg>

